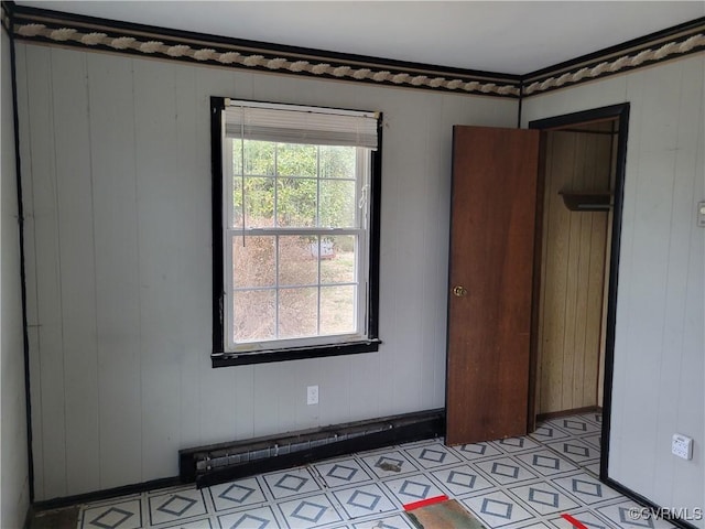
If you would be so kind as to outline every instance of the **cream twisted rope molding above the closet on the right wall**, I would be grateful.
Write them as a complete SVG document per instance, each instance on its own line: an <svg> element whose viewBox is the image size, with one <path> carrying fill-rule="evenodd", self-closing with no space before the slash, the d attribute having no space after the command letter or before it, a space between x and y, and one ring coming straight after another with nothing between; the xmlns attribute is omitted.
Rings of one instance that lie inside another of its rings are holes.
<svg viewBox="0 0 705 529"><path fill-rule="evenodd" d="M552 88L560 88L565 85L579 83L581 80L601 77L606 74L615 74L622 69L641 66L644 63L650 64L662 61L673 55L683 55L703 46L705 46L705 34L698 33L685 41L668 42L655 50L643 50L636 55L625 55L611 62L601 62L593 67L584 67L577 72L567 72L558 77L549 77L545 80L532 83L522 90L522 96L530 96Z"/></svg>

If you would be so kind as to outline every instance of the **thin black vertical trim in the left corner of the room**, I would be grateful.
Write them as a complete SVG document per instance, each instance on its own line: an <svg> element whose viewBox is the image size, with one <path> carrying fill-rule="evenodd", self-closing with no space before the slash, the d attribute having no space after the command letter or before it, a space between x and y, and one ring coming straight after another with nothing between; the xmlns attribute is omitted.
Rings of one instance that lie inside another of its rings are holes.
<svg viewBox="0 0 705 529"><path fill-rule="evenodd" d="M6 20L9 28L12 28L14 20L14 2L2 2L2 25ZM28 334L26 316L26 272L24 251L24 202L22 194L22 159L20 156L20 117L18 115L18 83L17 83L17 54L14 46L14 35L8 31L10 37L10 83L12 85L12 126L14 129L14 163L17 179L17 201L18 201L18 237L20 242L20 296L22 300L22 354L24 360L24 402L26 421L26 454L30 504L34 501L34 455L32 452L32 399L30 393L30 339Z"/></svg>

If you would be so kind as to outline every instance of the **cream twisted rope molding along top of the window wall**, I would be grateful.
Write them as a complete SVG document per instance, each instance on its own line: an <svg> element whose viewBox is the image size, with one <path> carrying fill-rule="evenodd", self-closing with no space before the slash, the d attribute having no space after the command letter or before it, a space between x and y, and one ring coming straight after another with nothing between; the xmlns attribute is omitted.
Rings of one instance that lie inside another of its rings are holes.
<svg viewBox="0 0 705 529"><path fill-rule="evenodd" d="M373 71L370 68L354 68L347 65L332 65L328 63L311 63L308 61L290 61L282 57L265 57L259 54L242 54L239 52L223 52L214 48L194 48L185 44L167 45L161 41L139 41L133 36L109 36L106 33L82 33L72 28L52 29L44 24L15 25L17 35L24 39L47 39L57 43L77 43L86 46L106 46L116 51L141 52L147 55L163 55L173 58L191 58L202 63L217 63L226 66L243 66L249 68L265 68L272 72L283 71L294 74L311 74L329 76L339 79L372 80L399 86L419 88L442 88L446 90L468 94L487 94L496 96L519 97L516 85L497 85L479 80L448 79L445 77L429 77L412 75L404 72Z"/></svg>

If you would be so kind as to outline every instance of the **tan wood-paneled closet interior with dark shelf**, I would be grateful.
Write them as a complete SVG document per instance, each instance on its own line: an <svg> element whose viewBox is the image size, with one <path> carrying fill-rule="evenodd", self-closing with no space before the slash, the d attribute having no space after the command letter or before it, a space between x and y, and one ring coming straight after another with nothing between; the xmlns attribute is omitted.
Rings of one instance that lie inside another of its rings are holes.
<svg viewBox="0 0 705 529"><path fill-rule="evenodd" d="M603 406L616 118L545 132L536 230L539 420Z"/></svg>

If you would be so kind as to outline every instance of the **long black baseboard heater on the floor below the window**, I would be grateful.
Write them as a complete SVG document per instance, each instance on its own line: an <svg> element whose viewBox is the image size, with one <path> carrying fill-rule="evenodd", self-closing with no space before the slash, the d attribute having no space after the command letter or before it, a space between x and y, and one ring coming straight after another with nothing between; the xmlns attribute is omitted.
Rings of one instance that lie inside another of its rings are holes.
<svg viewBox="0 0 705 529"><path fill-rule="evenodd" d="M444 432L445 410L438 409L212 444L178 451L178 475L200 488Z"/></svg>

